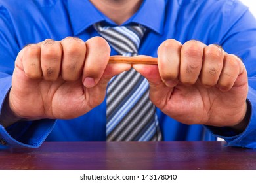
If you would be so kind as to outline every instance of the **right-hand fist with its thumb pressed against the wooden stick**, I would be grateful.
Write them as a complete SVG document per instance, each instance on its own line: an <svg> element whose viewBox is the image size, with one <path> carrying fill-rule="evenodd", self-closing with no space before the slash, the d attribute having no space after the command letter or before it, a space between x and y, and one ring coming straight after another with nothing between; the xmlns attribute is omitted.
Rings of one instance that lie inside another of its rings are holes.
<svg viewBox="0 0 256 183"><path fill-rule="evenodd" d="M148 79L152 103L179 122L233 126L245 116L245 66L217 45L170 39L158 48L158 66L133 67Z"/></svg>

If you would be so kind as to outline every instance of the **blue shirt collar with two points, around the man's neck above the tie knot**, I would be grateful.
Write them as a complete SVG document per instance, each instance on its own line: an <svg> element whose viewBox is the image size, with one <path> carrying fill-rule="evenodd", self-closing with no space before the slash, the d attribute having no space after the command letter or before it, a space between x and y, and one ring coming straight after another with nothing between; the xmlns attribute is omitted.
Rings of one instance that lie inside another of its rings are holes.
<svg viewBox="0 0 256 183"><path fill-rule="evenodd" d="M67 3L75 35L96 22L106 21L109 24L115 24L97 10L89 0L68 0ZM163 32L164 14L165 0L144 0L137 13L124 22L123 25L137 23L161 34Z"/></svg>

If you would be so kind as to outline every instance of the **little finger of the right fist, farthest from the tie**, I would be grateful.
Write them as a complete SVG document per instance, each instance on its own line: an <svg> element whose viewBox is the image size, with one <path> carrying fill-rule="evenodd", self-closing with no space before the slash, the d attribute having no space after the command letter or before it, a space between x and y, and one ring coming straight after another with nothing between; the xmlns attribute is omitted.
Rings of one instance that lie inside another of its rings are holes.
<svg viewBox="0 0 256 183"><path fill-rule="evenodd" d="M219 89L223 92L230 90L234 86L234 82L240 74L240 62L239 58L226 54L224 56L223 70L218 80Z"/></svg>

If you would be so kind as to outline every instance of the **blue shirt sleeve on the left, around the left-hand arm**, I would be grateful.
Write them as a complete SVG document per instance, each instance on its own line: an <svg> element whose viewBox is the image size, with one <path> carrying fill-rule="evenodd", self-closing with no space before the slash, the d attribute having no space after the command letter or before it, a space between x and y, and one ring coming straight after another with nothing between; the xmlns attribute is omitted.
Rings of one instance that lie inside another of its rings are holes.
<svg viewBox="0 0 256 183"><path fill-rule="evenodd" d="M0 112L11 89L14 61L20 47L8 11L0 6ZM1 113L0 113L1 115ZM54 127L55 120L18 122L4 128L0 125L0 148L4 146L38 147Z"/></svg>

